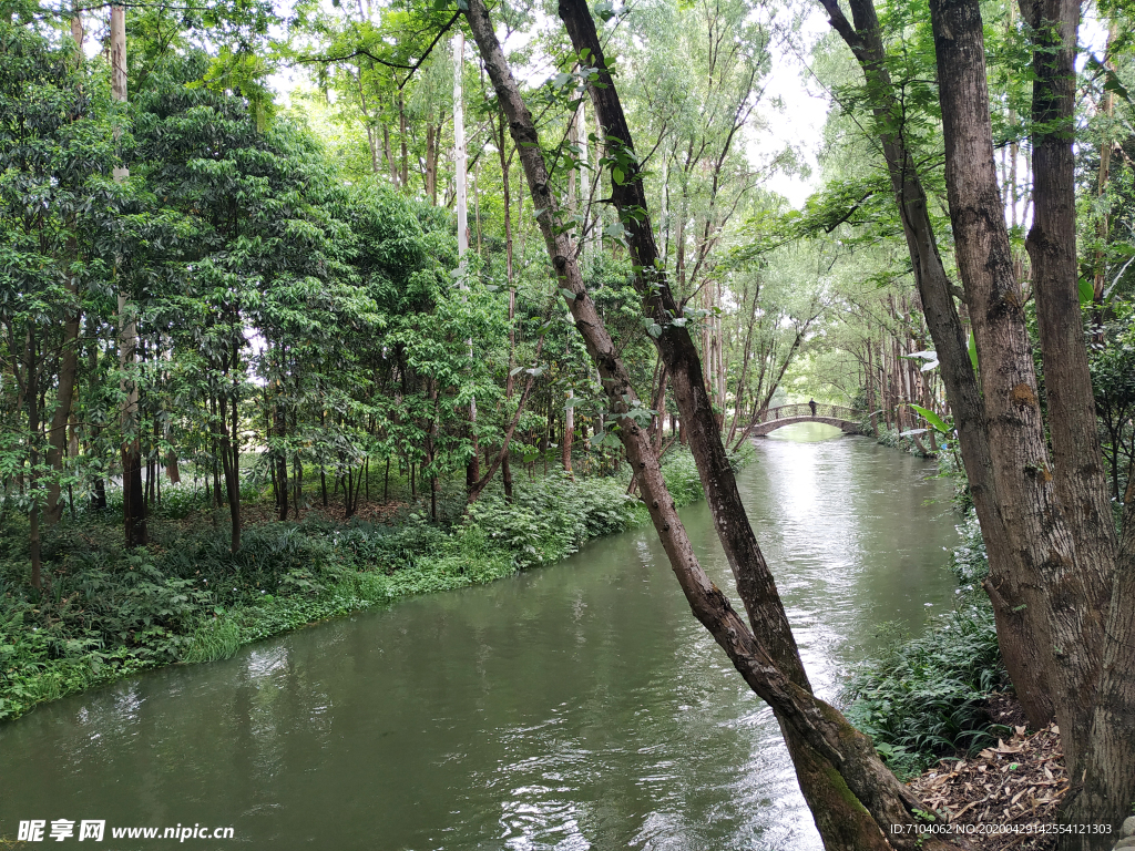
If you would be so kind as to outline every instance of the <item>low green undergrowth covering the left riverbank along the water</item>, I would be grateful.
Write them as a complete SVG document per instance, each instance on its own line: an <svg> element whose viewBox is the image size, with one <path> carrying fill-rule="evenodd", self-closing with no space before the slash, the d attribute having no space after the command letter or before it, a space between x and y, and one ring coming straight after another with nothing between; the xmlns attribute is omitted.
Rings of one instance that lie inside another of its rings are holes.
<svg viewBox="0 0 1135 851"><path fill-rule="evenodd" d="M669 456L663 470L679 505L701 497L688 453ZM250 490L252 515L258 498ZM552 473L518 481L511 504L490 490L449 523L405 505L387 522L309 511L297 523L251 524L233 554L224 517L202 504L203 495L167 491L152 544L132 551L121 547L120 512L61 523L45 541L42 593L27 584L26 528L6 521L0 719L145 668L226 658L314 621L552 564L649 522L625 475Z"/></svg>

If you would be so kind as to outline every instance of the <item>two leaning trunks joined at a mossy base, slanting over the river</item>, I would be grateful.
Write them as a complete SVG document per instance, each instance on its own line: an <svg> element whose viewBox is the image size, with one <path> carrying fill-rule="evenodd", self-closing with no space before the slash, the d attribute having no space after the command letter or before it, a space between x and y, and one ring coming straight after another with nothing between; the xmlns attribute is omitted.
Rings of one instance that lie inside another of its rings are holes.
<svg viewBox="0 0 1135 851"><path fill-rule="evenodd" d="M608 140L607 158L617 163L625 177L614 178L612 189L623 211L624 226L633 234L631 238L640 238L640 242L632 242L638 250L637 266L651 270L653 273L657 268L653 262L654 258L644 258L646 251L653 247L654 236L645 204L640 203L641 178L637 174L630 134L617 106L602 50L598 49L590 12L583 5L564 2L561 5L561 16L569 25L573 42L577 42L578 56L596 62L596 70L591 71L595 75L591 85L592 103ZM659 286L653 279L651 283L657 287L654 292L658 295L649 295L648 305L657 311L654 313L656 322L661 318L670 329L676 330L667 329L659 334L659 349L667 365L674 364L675 393L682 406L683 419L690 421L692 432L698 436L698 443L693 446L695 457L703 485L706 486L718 537L722 538L738 578L738 591L749 613L751 630L738 617L729 599L705 575L690 548L681 521L674 513L673 502L662 482L657 455L644 428L646 423L640 423L637 419L637 411L641 407L636 404L638 399L622 359L583 285L575 261L575 247L566 235L568 229L560 221L558 204L548 188L547 167L540 153L536 127L501 52L488 14L478 0L471 0L466 18L497 98L508 116L532 201L541 211L538 221L558 285L566 290L565 298L570 303L575 326L599 368L611 411L619 420L619 439L636 471L655 529L687 600L698 620L730 655L750 688L776 713L793 761L798 766L801 787L809 799L825 843L832 848L886 848L888 839L883 826L911 819L913 810L918 803L883 766L869 740L851 727L832 707L816 699L808 689L775 584L756 547L743 509L740 517L734 513L740 506L740 499L731 498L729 492L732 490L735 494L737 486L701 385L697 353L683 328L681 315L672 312L667 317L664 312L666 305L663 300L671 297L669 289L664 287L664 283ZM588 28L590 32L587 32ZM632 214L628 214L628 211ZM647 262L642 262L644 260ZM676 323L671 320L676 320ZM671 336L664 338L667 334ZM724 470L716 466L722 462ZM745 521L743 529L734 532L728 528L728 523L738 520ZM748 551L739 558L741 547L748 547ZM922 840L918 842L922 844ZM898 848L914 848L915 840L896 839L893 844Z"/></svg>

